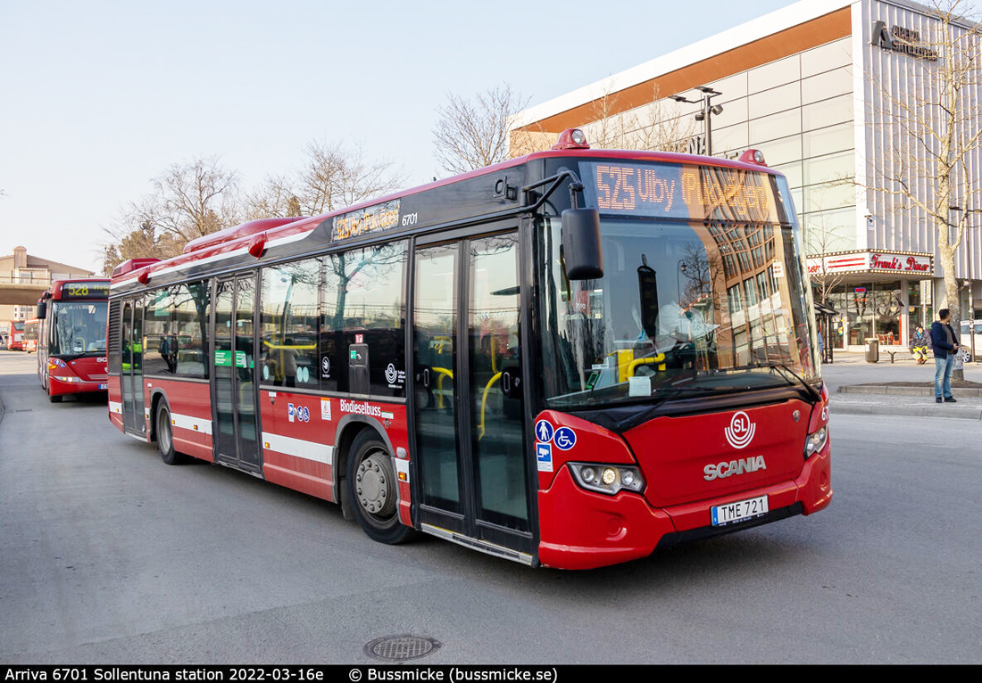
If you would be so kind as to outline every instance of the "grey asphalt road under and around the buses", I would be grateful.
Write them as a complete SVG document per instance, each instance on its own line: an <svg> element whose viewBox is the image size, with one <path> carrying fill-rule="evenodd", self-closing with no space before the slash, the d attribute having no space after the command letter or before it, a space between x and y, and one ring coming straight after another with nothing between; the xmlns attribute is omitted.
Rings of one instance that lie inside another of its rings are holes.
<svg viewBox="0 0 982 683"><path fill-rule="evenodd" d="M208 464L0 351L0 662L982 662L977 422L833 415L826 511L589 572L424 537Z"/></svg>

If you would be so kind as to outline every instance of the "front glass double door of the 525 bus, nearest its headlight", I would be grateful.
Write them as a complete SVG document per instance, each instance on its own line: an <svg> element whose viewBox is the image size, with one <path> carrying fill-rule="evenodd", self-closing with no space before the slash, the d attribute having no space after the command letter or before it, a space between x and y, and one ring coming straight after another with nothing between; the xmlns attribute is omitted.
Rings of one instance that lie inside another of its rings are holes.
<svg viewBox="0 0 982 683"><path fill-rule="evenodd" d="M530 559L518 262L515 232L417 242L414 495L425 530Z"/></svg>

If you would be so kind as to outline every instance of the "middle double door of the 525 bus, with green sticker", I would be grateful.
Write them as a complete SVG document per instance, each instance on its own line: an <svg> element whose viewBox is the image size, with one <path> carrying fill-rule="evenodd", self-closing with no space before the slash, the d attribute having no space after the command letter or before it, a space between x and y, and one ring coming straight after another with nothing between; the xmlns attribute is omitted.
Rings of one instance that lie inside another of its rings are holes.
<svg viewBox="0 0 982 683"><path fill-rule="evenodd" d="M215 460L258 472L255 418L255 275L215 283L212 406Z"/></svg>

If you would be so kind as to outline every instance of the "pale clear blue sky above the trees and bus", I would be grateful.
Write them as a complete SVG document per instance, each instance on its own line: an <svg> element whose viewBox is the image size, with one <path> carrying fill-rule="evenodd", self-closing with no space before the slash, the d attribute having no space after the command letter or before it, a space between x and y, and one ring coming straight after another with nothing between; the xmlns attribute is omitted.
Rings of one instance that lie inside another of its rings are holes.
<svg viewBox="0 0 982 683"><path fill-rule="evenodd" d="M435 108L537 104L791 0L0 0L0 253L101 268L120 207L217 155L246 187L310 140L442 176Z"/></svg>

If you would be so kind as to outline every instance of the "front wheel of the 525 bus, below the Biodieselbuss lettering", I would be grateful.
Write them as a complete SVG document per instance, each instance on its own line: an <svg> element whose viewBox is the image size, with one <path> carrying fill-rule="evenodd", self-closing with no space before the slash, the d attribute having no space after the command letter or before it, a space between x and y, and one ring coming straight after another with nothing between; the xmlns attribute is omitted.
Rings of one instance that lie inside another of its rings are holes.
<svg viewBox="0 0 982 683"><path fill-rule="evenodd" d="M355 519L368 538L390 546L409 541L412 529L399 519L392 454L370 430L355 437L348 453L348 492Z"/></svg>

